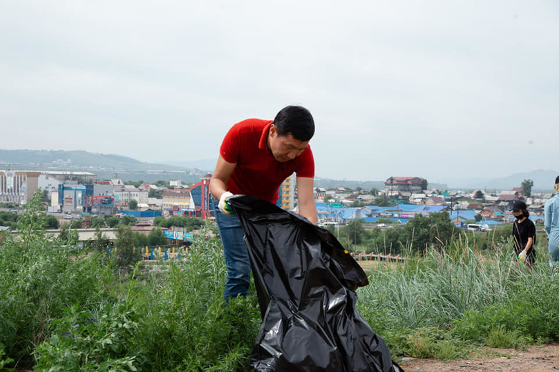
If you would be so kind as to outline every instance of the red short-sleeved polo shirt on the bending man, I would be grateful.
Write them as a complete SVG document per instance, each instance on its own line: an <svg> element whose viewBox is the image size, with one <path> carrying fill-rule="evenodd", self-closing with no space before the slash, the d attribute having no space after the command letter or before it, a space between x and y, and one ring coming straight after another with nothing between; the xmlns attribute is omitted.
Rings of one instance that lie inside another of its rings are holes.
<svg viewBox="0 0 559 372"><path fill-rule="evenodd" d="M310 146L299 157L277 161L267 149L267 137L272 120L246 119L235 124L220 147L220 155L237 166L227 189L234 194L252 195L276 203L278 189L287 177L314 177L314 158Z"/></svg>

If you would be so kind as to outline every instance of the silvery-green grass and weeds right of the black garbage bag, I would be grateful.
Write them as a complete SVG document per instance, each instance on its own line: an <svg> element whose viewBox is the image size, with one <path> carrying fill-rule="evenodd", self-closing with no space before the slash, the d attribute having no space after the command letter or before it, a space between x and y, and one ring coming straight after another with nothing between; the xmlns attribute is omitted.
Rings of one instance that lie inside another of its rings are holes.
<svg viewBox="0 0 559 372"><path fill-rule="evenodd" d="M530 270L510 250L505 245L482 254L464 242L451 252L408 257L396 270L370 271L370 284L359 290L359 311L393 351L408 355L425 350L419 339L430 340L429 356L436 356L445 339L484 344L495 329L524 342L558 340L559 279L550 275L547 252L538 249Z"/></svg>

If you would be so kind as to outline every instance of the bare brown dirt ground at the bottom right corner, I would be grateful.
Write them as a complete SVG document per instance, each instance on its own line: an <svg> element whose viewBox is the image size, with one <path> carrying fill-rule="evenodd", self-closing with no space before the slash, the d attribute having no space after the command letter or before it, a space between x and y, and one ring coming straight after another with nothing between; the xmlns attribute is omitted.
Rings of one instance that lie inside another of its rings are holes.
<svg viewBox="0 0 559 372"><path fill-rule="evenodd" d="M559 344L532 346L527 351L515 349L484 349L483 352L474 353L470 360L455 360L451 362L442 362L432 359L404 358L399 364L406 372L559 371Z"/></svg>

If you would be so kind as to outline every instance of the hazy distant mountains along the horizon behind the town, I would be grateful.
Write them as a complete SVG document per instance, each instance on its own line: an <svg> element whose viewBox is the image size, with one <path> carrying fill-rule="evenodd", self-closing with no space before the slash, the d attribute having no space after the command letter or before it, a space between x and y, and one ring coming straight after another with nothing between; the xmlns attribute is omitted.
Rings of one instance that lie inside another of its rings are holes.
<svg viewBox="0 0 559 372"><path fill-rule="evenodd" d="M216 159L202 159L196 161L171 160L164 164L146 163L131 157L121 155L107 155L88 153L83 150L1 150L0 169L15 168L19 170L79 170L97 174L99 179L119 177L125 181L155 182L159 179L182 179L183 182L198 182L200 177L213 173ZM439 190L463 189L474 190L484 188L487 191L511 190L520 187L524 179L532 179L532 190L549 191L553 189L553 181L559 175L557 170L533 170L529 173L515 173L508 177L499 178L455 178L444 179L446 184L433 184L429 188ZM447 186L448 184L448 186ZM345 179L325 179L316 177L315 186L324 188L347 187L355 189L377 188L384 189L381 181L352 181Z"/></svg>

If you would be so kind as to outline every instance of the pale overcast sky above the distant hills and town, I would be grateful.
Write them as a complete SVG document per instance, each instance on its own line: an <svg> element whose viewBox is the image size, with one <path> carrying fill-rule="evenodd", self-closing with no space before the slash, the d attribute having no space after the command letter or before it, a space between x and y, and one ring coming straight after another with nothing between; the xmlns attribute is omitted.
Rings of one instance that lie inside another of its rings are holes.
<svg viewBox="0 0 559 372"><path fill-rule="evenodd" d="M559 170L559 1L0 0L0 148L217 159L288 104L318 177Z"/></svg>

